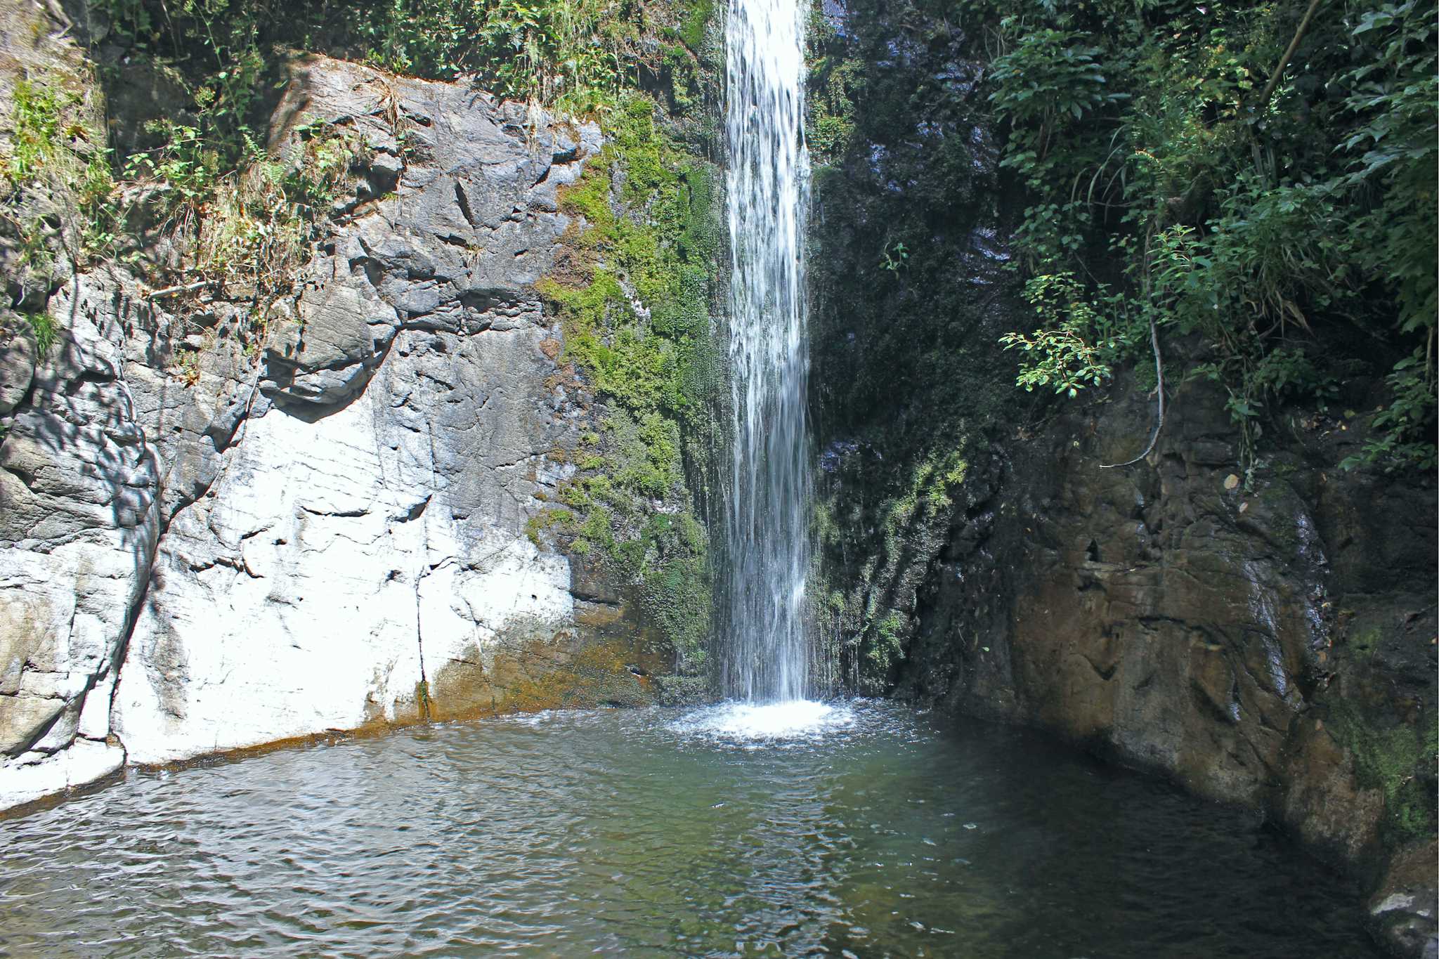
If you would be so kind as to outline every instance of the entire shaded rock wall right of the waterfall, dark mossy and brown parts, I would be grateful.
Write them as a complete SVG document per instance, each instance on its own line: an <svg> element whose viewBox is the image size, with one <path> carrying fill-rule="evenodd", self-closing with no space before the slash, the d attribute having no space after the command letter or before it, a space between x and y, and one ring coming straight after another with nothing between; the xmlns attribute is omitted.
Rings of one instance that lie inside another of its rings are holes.
<svg viewBox="0 0 1439 959"><path fill-rule="evenodd" d="M1147 387L1043 404L980 37L825 4L812 58L823 591L848 683L1050 729L1255 808L1374 891L1402 955L1435 937L1432 477L1344 472L1330 414L1276 411L1252 472L1223 393L1167 342ZM862 79L861 79L862 78ZM1427 874L1416 868L1427 863ZM1427 953L1426 953L1427 955Z"/></svg>

